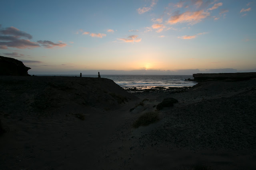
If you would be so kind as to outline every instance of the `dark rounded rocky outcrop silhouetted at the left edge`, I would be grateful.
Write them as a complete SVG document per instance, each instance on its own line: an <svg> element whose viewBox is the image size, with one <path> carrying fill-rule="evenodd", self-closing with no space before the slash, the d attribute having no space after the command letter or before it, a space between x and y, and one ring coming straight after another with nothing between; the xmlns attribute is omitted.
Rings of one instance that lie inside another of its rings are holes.
<svg viewBox="0 0 256 170"><path fill-rule="evenodd" d="M30 76L29 69L18 59L0 56L0 75Z"/></svg>

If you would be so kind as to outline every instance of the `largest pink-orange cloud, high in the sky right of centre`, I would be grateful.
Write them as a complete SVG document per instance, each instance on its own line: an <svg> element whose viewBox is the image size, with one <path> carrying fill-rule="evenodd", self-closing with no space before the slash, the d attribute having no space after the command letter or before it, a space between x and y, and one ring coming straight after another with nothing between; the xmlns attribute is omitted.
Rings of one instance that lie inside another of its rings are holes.
<svg viewBox="0 0 256 170"><path fill-rule="evenodd" d="M210 12L204 12L204 10L199 10L196 12L184 12L182 14L177 14L175 16L171 16L168 20L170 24L184 23L188 22L189 24L196 24L201 22L202 19L210 16Z"/></svg>

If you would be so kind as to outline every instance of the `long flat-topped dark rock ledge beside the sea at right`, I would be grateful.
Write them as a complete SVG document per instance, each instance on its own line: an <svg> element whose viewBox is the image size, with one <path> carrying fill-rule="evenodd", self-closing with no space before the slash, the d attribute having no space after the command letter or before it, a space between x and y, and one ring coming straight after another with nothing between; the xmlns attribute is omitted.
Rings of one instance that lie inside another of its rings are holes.
<svg viewBox="0 0 256 170"><path fill-rule="evenodd" d="M251 73L198 73L193 74L194 81L243 81L256 78L256 72Z"/></svg>

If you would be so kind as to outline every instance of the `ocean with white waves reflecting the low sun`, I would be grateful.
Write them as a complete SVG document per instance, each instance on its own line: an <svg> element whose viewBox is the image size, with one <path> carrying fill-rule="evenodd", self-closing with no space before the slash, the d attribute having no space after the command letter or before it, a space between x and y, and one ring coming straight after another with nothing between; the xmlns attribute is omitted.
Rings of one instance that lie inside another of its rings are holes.
<svg viewBox="0 0 256 170"><path fill-rule="evenodd" d="M37 76L77 76L80 75L37 75ZM192 75L100 75L102 78L113 80L124 89L151 89L152 87L192 87L197 83L184 81L194 79ZM98 75L82 75L82 77L98 77Z"/></svg>

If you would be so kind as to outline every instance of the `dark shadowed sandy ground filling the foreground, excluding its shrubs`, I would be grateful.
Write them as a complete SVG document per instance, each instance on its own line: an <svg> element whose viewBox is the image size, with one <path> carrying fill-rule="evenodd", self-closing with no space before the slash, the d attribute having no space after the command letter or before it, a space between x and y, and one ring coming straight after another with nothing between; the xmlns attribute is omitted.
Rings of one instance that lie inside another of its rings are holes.
<svg viewBox="0 0 256 170"><path fill-rule="evenodd" d="M130 94L82 78L0 77L1 169L256 168L255 79ZM179 103L156 111L166 97ZM132 127L150 111L160 120Z"/></svg>

